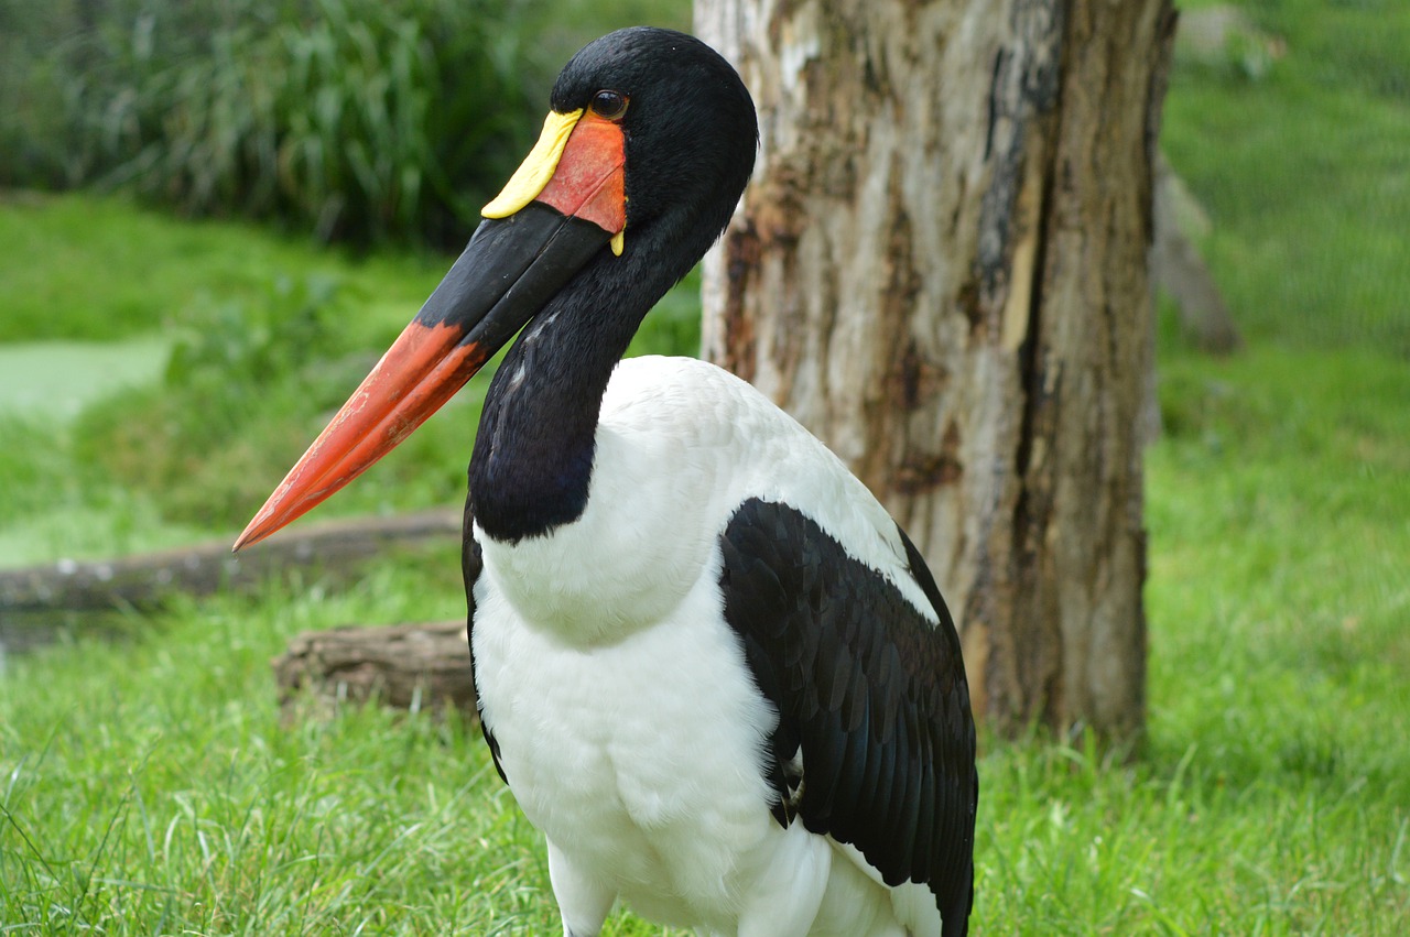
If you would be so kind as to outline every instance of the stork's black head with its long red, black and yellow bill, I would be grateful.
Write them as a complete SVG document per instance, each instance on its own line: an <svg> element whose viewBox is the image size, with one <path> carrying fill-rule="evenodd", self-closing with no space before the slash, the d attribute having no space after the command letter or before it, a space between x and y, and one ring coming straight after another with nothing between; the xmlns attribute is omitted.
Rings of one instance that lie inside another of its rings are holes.
<svg viewBox="0 0 1410 937"><path fill-rule="evenodd" d="M546 309L615 303L634 328L723 231L759 128L718 52L670 30L619 30L572 56L550 106L464 252L235 550L392 451Z"/></svg>

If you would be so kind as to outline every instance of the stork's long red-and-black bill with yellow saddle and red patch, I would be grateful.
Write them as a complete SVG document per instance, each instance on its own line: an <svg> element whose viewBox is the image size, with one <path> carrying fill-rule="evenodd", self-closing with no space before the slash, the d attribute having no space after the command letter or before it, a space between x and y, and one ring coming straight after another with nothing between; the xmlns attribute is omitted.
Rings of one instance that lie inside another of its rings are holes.
<svg viewBox="0 0 1410 937"><path fill-rule="evenodd" d="M625 139L596 118L550 114L465 251L416 318L240 534L258 542L391 452L605 247L622 252Z"/></svg>

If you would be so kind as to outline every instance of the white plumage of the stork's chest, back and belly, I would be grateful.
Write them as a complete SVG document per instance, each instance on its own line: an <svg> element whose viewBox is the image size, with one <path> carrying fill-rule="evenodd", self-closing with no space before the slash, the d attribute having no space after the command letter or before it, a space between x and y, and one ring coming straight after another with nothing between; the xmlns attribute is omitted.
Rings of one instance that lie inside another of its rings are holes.
<svg viewBox="0 0 1410 937"><path fill-rule="evenodd" d="M622 362L588 507L516 544L475 530L472 641L486 727L548 840L565 933L620 896L704 933L939 934L933 895L781 827L763 751L777 723L723 619L719 534L747 497L791 504L926 620L894 521L757 390L681 358Z"/></svg>

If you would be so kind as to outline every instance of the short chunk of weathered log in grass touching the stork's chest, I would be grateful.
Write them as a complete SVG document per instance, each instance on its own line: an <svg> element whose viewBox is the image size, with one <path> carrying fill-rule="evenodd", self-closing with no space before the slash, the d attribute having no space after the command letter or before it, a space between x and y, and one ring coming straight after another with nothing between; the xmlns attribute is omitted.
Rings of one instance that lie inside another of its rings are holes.
<svg viewBox="0 0 1410 937"><path fill-rule="evenodd" d="M375 699L396 709L475 713L464 620L307 631L271 666L286 709L314 700L334 710Z"/></svg>

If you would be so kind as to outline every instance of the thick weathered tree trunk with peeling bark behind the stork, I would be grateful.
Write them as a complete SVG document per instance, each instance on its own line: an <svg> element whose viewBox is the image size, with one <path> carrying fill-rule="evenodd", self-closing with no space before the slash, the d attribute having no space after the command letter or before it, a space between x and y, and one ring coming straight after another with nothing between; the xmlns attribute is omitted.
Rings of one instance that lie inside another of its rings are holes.
<svg viewBox="0 0 1410 937"><path fill-rule="evenodd" d="M1169 0L698 0L697 31L761 137L706 356L908 530L993 726L1138 733Z"/></svg>

